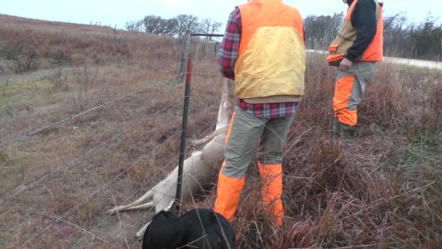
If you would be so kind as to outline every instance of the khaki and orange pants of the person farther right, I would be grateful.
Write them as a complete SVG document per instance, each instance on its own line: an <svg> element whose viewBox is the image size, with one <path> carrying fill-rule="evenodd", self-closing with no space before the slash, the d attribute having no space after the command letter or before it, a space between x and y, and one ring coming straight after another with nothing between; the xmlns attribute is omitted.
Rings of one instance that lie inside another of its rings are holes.
<svg viewBox="0 0 442 249"><path fill-rule="evenodd" d="M354 62L349 71L337 71L333 110L339 122L356 125L358 104L365 91L365 84L372 80L376 62Z"/></svg>

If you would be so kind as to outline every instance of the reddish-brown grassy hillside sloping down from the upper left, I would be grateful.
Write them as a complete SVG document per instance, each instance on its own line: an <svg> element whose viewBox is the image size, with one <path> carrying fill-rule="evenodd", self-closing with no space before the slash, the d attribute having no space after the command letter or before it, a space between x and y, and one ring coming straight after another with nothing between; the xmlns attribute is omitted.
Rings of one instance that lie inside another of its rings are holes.
<svg viewBox="0 0 442 249"><path fill-rule="evenodd" d="M142 33L7 15L0 15L0 21L0 54L6 73L177 56L174 50L155 46L174 46L170 40Z"/></svg>

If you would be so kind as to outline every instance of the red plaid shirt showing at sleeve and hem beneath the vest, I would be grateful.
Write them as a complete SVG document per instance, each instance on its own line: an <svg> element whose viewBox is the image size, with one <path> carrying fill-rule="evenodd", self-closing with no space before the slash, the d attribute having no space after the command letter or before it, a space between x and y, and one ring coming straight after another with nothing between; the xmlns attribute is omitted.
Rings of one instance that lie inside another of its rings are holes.
<svg viewBox="0 0 442 249"><path fill-rule="evenodd" d="M238 59L242 30L241 12L235 8L227 21L226 33L220 46L218 64L224 77L235 80L235 62ZM298 108L298 102L249 104L236 100L238 107L258 118L280 118L291 116Z"/></svg>

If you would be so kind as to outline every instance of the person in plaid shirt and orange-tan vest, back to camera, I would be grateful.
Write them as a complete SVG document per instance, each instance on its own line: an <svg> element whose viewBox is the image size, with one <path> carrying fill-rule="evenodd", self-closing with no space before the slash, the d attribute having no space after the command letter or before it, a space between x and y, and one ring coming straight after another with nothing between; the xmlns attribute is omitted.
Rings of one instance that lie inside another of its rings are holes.
<svg viewBox="0 0 442 249"><path fill-rule="evenodd" d="M251 0L229 17L220 47L224 77L235 80L238 99L226 138L215 212L233 219L245 172L257 149L262 199L282 225L282 147L304 95L302 17L280 0Z"/></svg>

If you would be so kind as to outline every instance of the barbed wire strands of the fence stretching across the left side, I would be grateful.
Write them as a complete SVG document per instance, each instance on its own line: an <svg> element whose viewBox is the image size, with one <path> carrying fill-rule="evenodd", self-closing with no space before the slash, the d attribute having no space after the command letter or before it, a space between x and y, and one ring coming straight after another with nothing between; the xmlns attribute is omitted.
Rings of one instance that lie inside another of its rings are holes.
<svg viewBox="0 0 442 249"><path fill-rule="evenodd" d="M190 40L190 39L189 39ZM186 48L187 46L187 48ZM185 57L189 56L189 42L186 42L186 44L184 44L184 50L183 51L183 56L185 55ZM182 61L183 63L184 61ZM185 62L186 63L186 62ZM138 89L137 91L133 91L131 93L127 93L126 95L122 95L119 98L115 98L114 100L110 100L104 104L100 104L96 107L93 107L92 109L88 109L86 111L82 111L80 113L77 113L73 116L68 116L58 122L53 122L51 124L47 124L44 127L41 127L39 129L35 129L26 133L23 133L15 138L8 138L7 140L3 140L0 141L0 149L3 149L4 147L7 147L8 145L11 145L12 143L24 140L30 136L34 136L36 134L41 133L42 131L46 131L48 129L51 129L53 127L62 125L62 124L66 124L68 123L68 121L70 120L75 120L75 118L79 118L81 116L86 116L86 114L91 113L93 111L98 111L100 109L105 109L110 107L112 104L115 104L115 102L119 102L120 100L124 100L127 98L131 98L134 95L137 95L138 93L142 93L144 91L148 91L149 89L153 89L153 87L155 86L164 86L166 83L171 82L171 81L175 81L178 80L178 82L180 81L180 78L182 78L184 75L189 76L189 72L180 72L177 73L177 75L173 76L173 77L169 77L165 80L161 80L161 81L157 81L154 84L150 84L148 86L145 86L142 89ZM22 194L23 192L27 192L35 187L38 187L41 183L43 183L44 181L48 181L51 178L55 178L57 176L57 174L59 174L59 172L63 171L64 169L75 165L76 163L79 163L81 160L84 160L84 158L90 156L91 154L93 154L94 151L97 151L98 149L102 149L104 147L106 147L107 145L110 145L111 142L114 142L115 140L117 140L118 138L122 138L122 136L124 136L124 134L129 133L131 131L133 131L135 128L140 127L144 122L146 122L147 120L153 120L154 118L156 118L160 113L164 113L166 112L166 110L171 109L173 106L176 106L177 104L179 104L180 102L182 102L183 100L185 100L186 98L190 98L191 95L195 94L196 92L206 88L207 86L211 85L212 87L215 85L213 83L213 78L215 77L220 77L220 75L218 73L201 73L201 72L194 72L193 75L197 75L199 77L206 77L206 78L210 78L211 80L209 80L208 82L206 82L205 84L202 84L198 87L196 87L195 89L193 89L193 91L189 92L189 93L185 93L184 97L182 98L177 98L177 100L175 102L171 102L169 104L166 104L165 107L163 107L160 110L155 111L154 113L150 113L148 114L148 116L142 118L141 120L139 120L138 122L136 122L135 124L132 124L130 127L124 129L123 131L120 131L118 133L115 133L115 135L113 135L111 138L108 138L102 142L100 142L98 145L96 145L95 147L92 147L91 149L88 149L87 151L85 151L82 154L79 154L77 156L75 156L74 158L72 158L71 160L68 160L67 163L58 165L56 167L53 167L54 169L50 172L48 172L47 174L41 175L37 178L35 178L30 184L26 185L25 187L22 187L20 190L13 192L12 194L8 195L6 198L2 199L0 201L0 208L3 206L5 206L9 201L11 201L12 199L15 199L15 197L19 196L19 194ZM189 124L186 124L191 126L193 124L197 124L200 120L202 120L204 118L204 116L210 115L210 113L215 113L215 109L216 107L219 107L219 98L213 98L215 101L213 101L213 103L202 103L204 104L204 110L202 113L198 113L199 115L196 118L193 118L191 120L191 122L189 122ZM185 102L185 101L184 101ZM186 111L186 109L189 109L189 107L184 107L183 110L183 115L184 112ZM206 130L202 131L200 133L200 136L198 136L198 138L196 138L197 140L202 138L202 136L204 136L208 131L210 131L211 129L213 129L213 127L215 127L215 120L213 120L214 124L212 124L211 126L209 126ZM152 149L149 149L149 151L144 154L143 156L140 156L140 158L137 158L135 161L133 161L133 163L129 166L126 167L124 170L122 170L122 172L120 172L119 174L117 174L116 176L114 176L113 178L111 178L110 180L106 181L106 183L99 185L99 187L97 187L93 192L90 192L90 194L88 194L86 196L86 198L81 199L81 201L78 201L75 206L73 208L70 208L69 210L67 210L66 212L64 212L63 214L57 216L57 215L52 215L52 214L48 214L47 216L51 216L52 218L49 221L46 221L46 225L42 226L41 229L35 231L34 233L32 233L32 235L30 235L27 238L21 238L23 239L23 243L17 242L19 244L17 244L17 247L19 248L26 248L30 245L35 246L34 243L32 243L32 241L34 241L35 239L44 236L44 234L46 234L51 228L54 228L55 225L57 225L57 223L60 222L66 222L69 223L70 225L75 226L76 228L79 229L79 232L81 232L81 234L84 233L84 236L79 238L78 240L76 240L76 243L73 247L77 247L77 246L81 246L81 243L84 241L84 239L86 239L89 236L93 236L95 238L99 238L97 236L95 236L95 234L93 234L93 232L95 232L95 230L97 228L99 228L101 225L103 225L104 223L106 223L106 221L109 220L109 218L111 217L111 214L108 214L106 216L104 216L102 219L96 220L96 225L88 230L86 228L81 228L81 225L76 225L75 221L74 222L70 222L67 221L67 217L72 216L73 212L75 212L75 210L79 209L79 207L81 207L82 205L84 205L86 202L90 201L91 199L93 199L94 196L96 196L99 192L102 192L102 190L108 188L111 184L115 183L118 179L122 179L122 176L124 176L129 170L133 169L133 167L135 167L135 165L141 163L142 161L146 160L147 158L149 158L150 156L152 156L153 154L155 154L155 151L160 150L162 147L164 147L168 142L171 142L172 140L174 140L175 138L177 138L177 136L179 134L182 134L182 139L186 138L186 128L182 127L181 130L176 131L175 133L173 133L173 135L169 136L169 138L167 138L166 140L164 140L163 142L160 143L160 145L157 145L156 147L153 147ZM184 136L183 136L184 135ZM184 147L184 151L185 149L189 149L191 147L191 142L185 142L185 147ZM176 163L176 159L178 157L182 157L184 156L183 152L180 152L180 154L177 154L175 156L173 156L172 158L170 158L168 163L165 163L159 170L157 170L157 172L151 176L151 180L150 181L146 181L144 182L142 185L140 185L140 187L137 188L137 190L135 190L135 192L133 192L131 194L131 196L126 197L126 201L131 200L131 198L137 194L139 194L142 190L144 190L144 187L146 187L146 185L148 185L148 183L152 183L152 182L157 182L158 178L164 174L164 172L166 171L166 169L168 169L169 167L171 167L171 165L174 165ZM115 200L114 200L115 201ZM140 222L144 219L144 217L146 215L148 215L150 212L150 210L148 210L147 212L144 213L143 216L140 217L140 219L138 219L138 221L136 222L137 225L140 224ZM120 237L119 239L117 239L117 241L115 243L112 244L112 248L114 248L121 239L126 239L126 235L129 232L125 232L124 235L122 235L122 237ZM19 239L19 241L21 241L21 239ZM99 238L100 239L100 238ZM105 239L100 239L102 240L103 243L106 244L111 244L110 242L106 241Z"/></svg>

